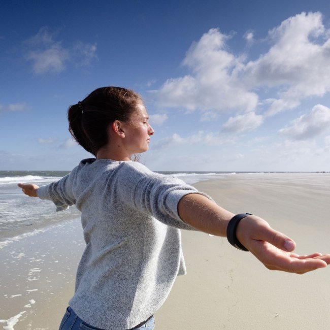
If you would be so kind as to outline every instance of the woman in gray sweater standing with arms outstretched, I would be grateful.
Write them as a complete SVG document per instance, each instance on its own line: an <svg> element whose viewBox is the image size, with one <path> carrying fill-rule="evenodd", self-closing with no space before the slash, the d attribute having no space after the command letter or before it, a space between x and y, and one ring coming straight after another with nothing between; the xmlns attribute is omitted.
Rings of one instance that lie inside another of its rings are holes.
<svg viewBox="0 0 330 330"><path fill-rule="evenodd" d="M69 130L95 158L58 182L19 184L29 196L75 204L86 248L60 329L152 329L153 313L177 275L185 274L180 229L228 237L267 268L303 274L330 255L291 253L295 243L254 215L234 215L183 181L131 161L149 148L154 131L141 97L103 87L68 111Z"/></svg>

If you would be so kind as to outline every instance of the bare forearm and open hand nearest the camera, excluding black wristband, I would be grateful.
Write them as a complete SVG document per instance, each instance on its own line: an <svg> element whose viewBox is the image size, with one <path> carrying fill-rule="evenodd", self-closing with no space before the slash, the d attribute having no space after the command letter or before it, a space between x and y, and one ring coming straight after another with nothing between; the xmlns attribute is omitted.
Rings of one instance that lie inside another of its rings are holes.
<svg viewBox="0 0 330 330"><path fill-rule="evenodd" d="M188 194L178 204L181 219L201 230L217 236L226 236L229 220L235 215L219 207L201 194ZM238 240L270 270L304 274L324 268L330 263L330 254L292 253L295 242L277 232L263 219L249 215L236 230Z"/></svg>

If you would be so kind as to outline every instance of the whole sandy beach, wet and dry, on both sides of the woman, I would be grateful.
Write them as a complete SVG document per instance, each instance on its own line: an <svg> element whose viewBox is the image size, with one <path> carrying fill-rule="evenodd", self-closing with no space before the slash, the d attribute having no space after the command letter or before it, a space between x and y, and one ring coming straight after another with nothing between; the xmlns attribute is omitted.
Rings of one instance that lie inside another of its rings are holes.
<svg viewBox="0 0 330 330"><path fill-rule="evenodd" d="M196 183L224 208L250 212L293 238L296 253L330 252L330 174L239 174ZM156 329L328 329L330 269L271 272L225 238L183 232L187 275L156 312ZM0 328L57 329L84 247L79 220L0 249Z"/></svg>

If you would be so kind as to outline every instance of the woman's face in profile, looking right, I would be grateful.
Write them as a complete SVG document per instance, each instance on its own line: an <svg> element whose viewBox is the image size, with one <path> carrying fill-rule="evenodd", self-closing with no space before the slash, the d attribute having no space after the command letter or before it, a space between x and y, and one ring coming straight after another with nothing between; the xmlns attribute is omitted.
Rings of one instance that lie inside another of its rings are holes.
<svg viewBox="0 0 330 330"><path fill-rule="evenodd" d="M150 136L154 130L148 122L149 116L143 104L125 123L125 146L129 154L145 152L149 149Z"/></svg>

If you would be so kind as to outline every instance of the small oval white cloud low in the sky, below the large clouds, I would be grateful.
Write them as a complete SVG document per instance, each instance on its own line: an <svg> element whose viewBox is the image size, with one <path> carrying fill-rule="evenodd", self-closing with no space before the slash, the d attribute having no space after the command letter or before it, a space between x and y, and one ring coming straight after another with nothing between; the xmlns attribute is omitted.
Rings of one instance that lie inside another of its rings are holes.
<svg viewBox="0 0 330 330"><path fill-rule="evenodd" d="M261 115L254 112L248 112L244 115L230 117L222 126L222 131L230 133L243 133L259 127L263 122Z"/></svg>

